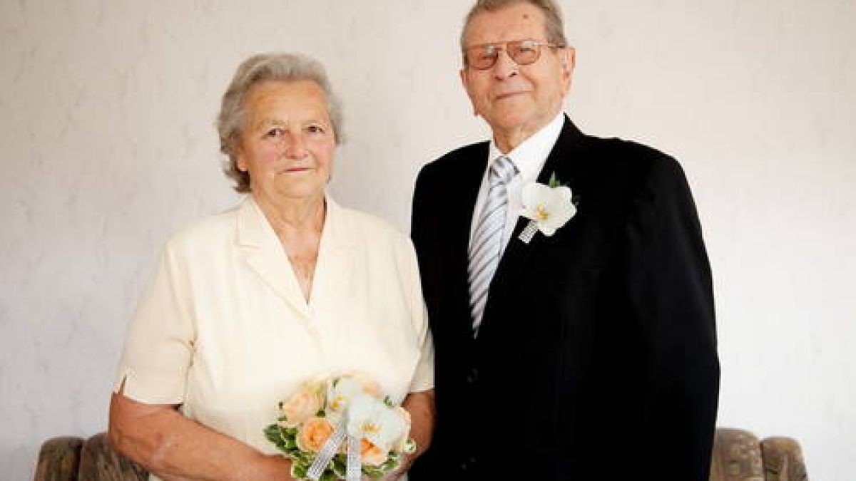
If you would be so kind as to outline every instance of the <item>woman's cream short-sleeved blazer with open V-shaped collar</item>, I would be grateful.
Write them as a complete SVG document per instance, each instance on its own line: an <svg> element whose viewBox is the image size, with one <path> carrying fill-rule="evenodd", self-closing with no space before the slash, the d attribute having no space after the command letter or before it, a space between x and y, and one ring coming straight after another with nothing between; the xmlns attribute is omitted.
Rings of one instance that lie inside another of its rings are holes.
<svg viewBox="0 0 856 481"><path fill-rule="evenodd" d="M139 302L116 376L135 401L260 451L300 383L364 371L392 400L431 389L433 345L413 246L388 223L326 199L307 303L264 214L240 205L173 235Z"/></svg>

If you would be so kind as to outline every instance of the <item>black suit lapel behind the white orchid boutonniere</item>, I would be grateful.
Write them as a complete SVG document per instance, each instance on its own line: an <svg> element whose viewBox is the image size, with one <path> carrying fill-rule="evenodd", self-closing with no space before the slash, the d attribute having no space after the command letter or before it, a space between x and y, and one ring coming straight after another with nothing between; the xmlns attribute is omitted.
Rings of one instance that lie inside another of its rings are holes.
<svg viewBox="0 0 856 481"><path fill-rule="evenodd" d="M580 140L582 140L582 133L568 119L568 116L565 116L562 133L559 134L556 145L553 146L550 155L544 162L544 167L538 173L538 183L548 183L550 175L554 172L559 181L563 183L570 181L568 178L570 166L574 162L575 155L580 151ZM573 185L571 187L573 188ZM517 237L528 223L529 219L519 217L514 226L514 233L502 254L496 268L496 274L490 282L490 294L487 305L484 306L482 329L484 329L484 324L490 323L492 312L496 311L497 306L502 304L502 300L508 299L510 290L515 285L520 284L520 276L526 268L526 263L532 258L532 253L537 252L547 241L541 233L536 233L528 244L520 241Z"/></svg>

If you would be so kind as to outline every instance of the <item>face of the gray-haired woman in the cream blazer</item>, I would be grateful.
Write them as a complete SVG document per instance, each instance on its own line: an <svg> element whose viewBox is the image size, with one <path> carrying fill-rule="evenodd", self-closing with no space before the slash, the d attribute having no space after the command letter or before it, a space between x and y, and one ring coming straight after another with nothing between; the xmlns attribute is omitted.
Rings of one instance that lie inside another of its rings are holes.
<svg viewBox="0 0 856 481"><path fill-rule="evenodd" d="M322 196L336 133L324 91L311 80L267 81L247 93L238 169L254 196L282 203Z"/></svg>

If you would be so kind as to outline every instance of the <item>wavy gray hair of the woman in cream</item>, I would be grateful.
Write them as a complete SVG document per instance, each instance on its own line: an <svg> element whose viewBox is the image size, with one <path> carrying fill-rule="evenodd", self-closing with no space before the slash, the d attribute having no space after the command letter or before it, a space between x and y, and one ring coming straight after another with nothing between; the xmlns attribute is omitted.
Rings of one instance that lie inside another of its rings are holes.
<svg viewBox="0 0 856 481"><path fill-rule="evenodd" d="M217 134L220 151L229 156L223 164L223 173L235 181L235 190L250 192L250 175L238 169L237 151L244 128L247 127L247 93L253 86L267 81L294 82L310 80L318 84L327 98L327 111L336 145L344 140L342 134L342 107L330 88L324 67L309 56L294 53L262 53L247 58L238 67L229 88L223 93L223 103L217 115Z"/></svg>

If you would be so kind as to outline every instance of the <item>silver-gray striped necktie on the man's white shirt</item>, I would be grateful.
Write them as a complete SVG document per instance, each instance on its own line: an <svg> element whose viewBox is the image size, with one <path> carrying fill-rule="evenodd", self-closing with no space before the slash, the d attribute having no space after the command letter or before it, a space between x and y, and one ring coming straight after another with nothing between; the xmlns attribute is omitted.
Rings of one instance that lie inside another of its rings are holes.
<svg viewBox="0 0 856 481"><path fill-rule="evenodd" d="M490 190L470 242L467 274L470 282L470 311L473 313L473 336L478 336L490 280L499 265L502 230L508 216L508 182L517 173L508 157L499 157L490 166Z"/></svg>

